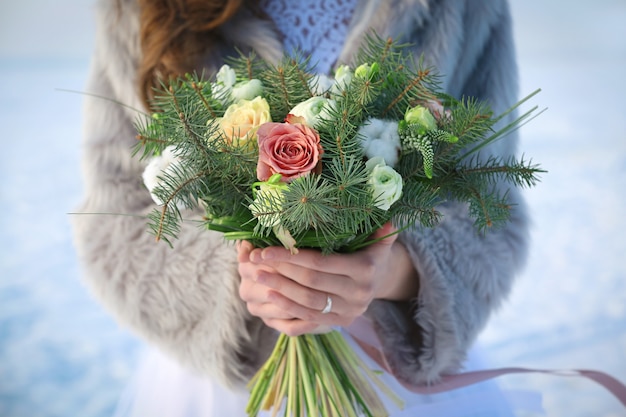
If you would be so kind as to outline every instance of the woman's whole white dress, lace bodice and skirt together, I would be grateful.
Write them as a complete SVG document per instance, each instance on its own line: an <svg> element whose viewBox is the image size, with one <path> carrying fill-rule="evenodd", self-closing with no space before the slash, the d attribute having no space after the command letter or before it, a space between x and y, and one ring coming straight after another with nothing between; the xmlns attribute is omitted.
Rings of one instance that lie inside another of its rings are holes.
<svg viewBox="0 0 626 417"><path fill-rule="evenodd" d="M356 0L260 0L284 34L285 50L311 56L319 73L328 74L341 52ZM347 340L372 369L380 369L347 334ZM476 352L470 352L466 370L480 369ZM381 378L404 401L398 409L385 396L391 417L513 417L514 410L542 413L536 393L499 389L493 381L440 394L422 395L406 390L393 376ZM146 352L114 417L246 417L247 393L234 392L207 378L194 375L156 350ZM260 417L269 417L264 412Z"/></svg>

